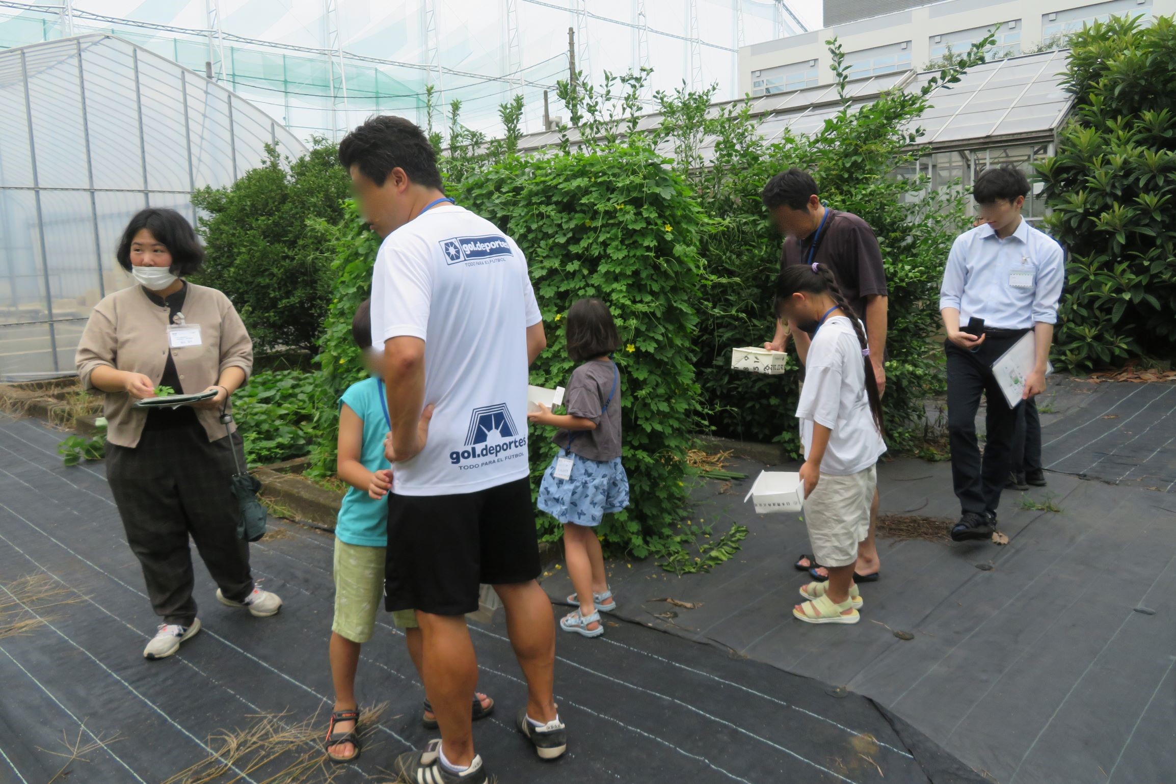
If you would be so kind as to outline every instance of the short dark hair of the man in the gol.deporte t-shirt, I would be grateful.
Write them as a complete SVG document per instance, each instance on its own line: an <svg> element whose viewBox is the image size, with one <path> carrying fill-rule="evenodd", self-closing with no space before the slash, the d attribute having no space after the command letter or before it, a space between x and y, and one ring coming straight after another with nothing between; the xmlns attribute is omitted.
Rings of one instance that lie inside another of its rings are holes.
<svg viewBox="0 0 1176 784"><path fill-rule="evenodd" d="M395 168L416 185L441 189L437 156L425 132L403 118L370 116L339 142L339 162L382 186Z"/></svg>

